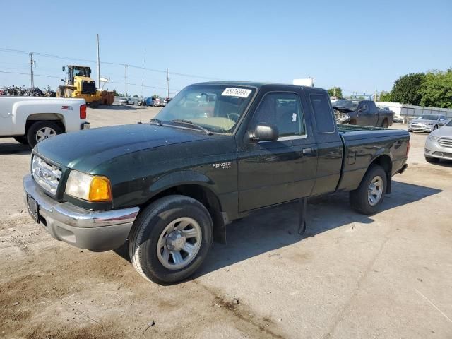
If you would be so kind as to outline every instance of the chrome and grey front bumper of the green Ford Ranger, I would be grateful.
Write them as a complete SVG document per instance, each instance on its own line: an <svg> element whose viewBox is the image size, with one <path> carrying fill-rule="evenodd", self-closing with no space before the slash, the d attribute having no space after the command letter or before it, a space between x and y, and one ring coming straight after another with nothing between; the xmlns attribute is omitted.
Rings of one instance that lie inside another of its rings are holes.
<svg viewBox="0 0 452 339"><path fill-rule="evenodd" d="M44 194L31 174L23 178L23 189L28 212L52 237L90 251L109 251L124 244L140 210L97 212L59 203Z"/></svg>

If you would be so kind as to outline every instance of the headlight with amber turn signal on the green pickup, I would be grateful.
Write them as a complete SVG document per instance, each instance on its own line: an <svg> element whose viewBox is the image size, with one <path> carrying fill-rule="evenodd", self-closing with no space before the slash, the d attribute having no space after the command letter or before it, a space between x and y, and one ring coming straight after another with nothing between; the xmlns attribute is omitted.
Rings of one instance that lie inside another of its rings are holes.
<svg viewBox="0 0 452 339"><path fill-rule="evenodd" d="M111 201L112 189L107 177L78 171L69 173L66 194L86 201Z"/></svg>

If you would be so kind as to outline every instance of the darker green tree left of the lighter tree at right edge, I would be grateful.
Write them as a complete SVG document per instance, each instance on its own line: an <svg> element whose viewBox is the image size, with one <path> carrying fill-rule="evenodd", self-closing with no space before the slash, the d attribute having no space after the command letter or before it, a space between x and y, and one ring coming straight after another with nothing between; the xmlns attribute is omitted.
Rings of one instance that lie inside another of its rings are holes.
<svg viewBox="0 0 452 339"><path fill-rule="evenodd" d="M424 73L410 73L400 76L393 85L391 98L402 104L420 105L422 95L420 89L426 80Z"/></svg>

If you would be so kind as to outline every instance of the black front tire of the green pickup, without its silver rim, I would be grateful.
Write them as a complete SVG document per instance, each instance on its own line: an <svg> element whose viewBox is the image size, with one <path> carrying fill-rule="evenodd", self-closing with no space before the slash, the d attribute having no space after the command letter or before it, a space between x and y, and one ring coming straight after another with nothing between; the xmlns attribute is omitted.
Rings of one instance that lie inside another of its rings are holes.
<svg viewBox="0 0 452 339"><path fill-rule="evenodd" d="M186 266L169 269L157 258L157 246L165 227L178 218L191 218L198 222L201 227L201 246ZM129 234L129 256L133 267L147 280L163 285L177 283L201 266L212 239L212 218L202 203L188 196L164 196L145 208L133 223Z"/></svg>

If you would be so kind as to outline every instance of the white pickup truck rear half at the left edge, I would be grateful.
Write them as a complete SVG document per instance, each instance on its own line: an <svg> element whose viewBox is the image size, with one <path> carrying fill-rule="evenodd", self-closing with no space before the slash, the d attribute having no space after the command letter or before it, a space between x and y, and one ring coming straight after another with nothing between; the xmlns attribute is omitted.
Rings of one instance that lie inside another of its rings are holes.
<svg viewBox="0 0 452 339"><path fill-rule="evenodd" d="M89 128L84 99L0 97L0 138L34 147L57 134Z"/></svg>

